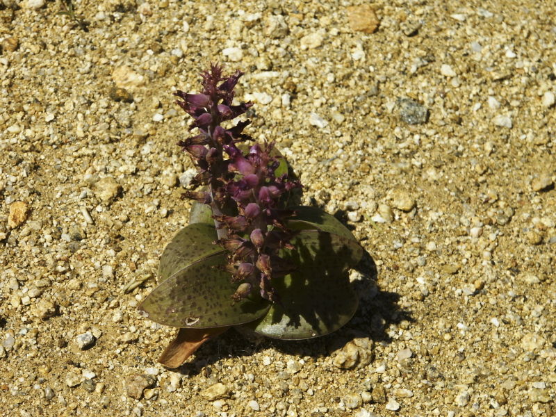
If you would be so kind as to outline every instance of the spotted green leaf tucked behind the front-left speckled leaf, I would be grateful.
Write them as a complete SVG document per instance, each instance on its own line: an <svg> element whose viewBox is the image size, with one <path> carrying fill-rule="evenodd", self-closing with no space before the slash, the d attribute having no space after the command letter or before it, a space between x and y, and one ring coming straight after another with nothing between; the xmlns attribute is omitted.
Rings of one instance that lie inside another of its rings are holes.
<svg viewBox="0 0 556 417"><path fill-rule="evenodd" d="M165 247L158 264L158 275L167 279L174 272L205 256L223 253L222 247L213 244L216 239L214 223L195 223L183 227Z"/></svg>

